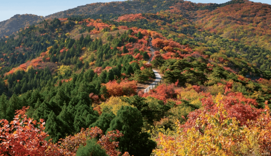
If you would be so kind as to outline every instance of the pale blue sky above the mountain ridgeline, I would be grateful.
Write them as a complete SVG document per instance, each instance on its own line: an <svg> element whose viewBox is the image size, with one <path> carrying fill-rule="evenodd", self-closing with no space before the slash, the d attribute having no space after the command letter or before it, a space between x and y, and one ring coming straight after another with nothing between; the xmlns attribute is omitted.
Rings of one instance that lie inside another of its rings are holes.
<svg viewBox="0 0 271 156"><path fill-rule="evenodd" d="M75 8L76 6L111 1L124 0L0 0L0 22L11 18L15 14L36 14L39 16L47 16L59 11ZM228 1L230 0L191 0L191 2L195 3L224 3ZM271 4L270 0L253 0L253 2Z"/></svg>

